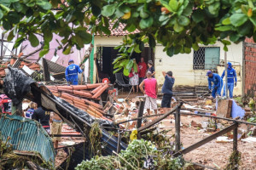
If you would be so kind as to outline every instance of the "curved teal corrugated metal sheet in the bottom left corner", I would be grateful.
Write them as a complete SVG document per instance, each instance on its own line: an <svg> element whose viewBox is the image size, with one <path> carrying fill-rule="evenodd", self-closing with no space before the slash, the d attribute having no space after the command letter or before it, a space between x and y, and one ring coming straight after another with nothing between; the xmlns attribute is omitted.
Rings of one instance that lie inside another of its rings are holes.
<svg viewBox="0 0 256 170"><path fill-rule="evenodd" d="M44 161L55 166L55 150L48 133L38 122L21 116L2 116L0 132L3 141L8 137L14 150L27 150L39 153Z"/></svg>

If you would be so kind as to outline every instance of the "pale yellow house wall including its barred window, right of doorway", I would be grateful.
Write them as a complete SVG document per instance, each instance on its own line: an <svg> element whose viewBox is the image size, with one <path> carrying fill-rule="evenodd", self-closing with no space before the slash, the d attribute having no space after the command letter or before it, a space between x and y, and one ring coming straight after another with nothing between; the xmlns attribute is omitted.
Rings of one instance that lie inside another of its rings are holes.
<svg viewBox="0 0 256 170"><path fill-rule="evenodd" d="M201 46L200 50L190 54L177 54L172 57L163 52L164 47L155 48L155 71L159 84L165 81L162 71L172 71L175 77L175 85L184 86L207 86L208 70L216 71L221 76L223 70L218 65L224 66L224 46L221 42L209 46ZM234 89L235 95L241 95L241 65L242 65L242 42L229 46L227 60L236 65L240 70L238 83ZM240 65L240 66L239 66Z"/></svg>

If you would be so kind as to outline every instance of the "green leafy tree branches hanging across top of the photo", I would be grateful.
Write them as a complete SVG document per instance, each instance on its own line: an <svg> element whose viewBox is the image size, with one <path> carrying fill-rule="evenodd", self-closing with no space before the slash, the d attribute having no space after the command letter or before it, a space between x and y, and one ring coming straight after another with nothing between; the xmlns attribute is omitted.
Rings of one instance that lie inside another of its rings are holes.
<svg viewBox="0 0 256 170"><path fill-rule="evenodd" d="M17 34L15 47L28 39L38 46L38 36L44 37L47 54L53 33L62 37L63 54L75 46L80 49L90 43L92 34L110 34L111 29L125 24L131 32L122 47L140 52L144 44L154 48L162 44L170 56L197 50L199 43L224 43L245 37L256 41L256 0L3 0L0 4L1 25L9 31L9 40ZM113 23L109 26L109 23ZM132 34L138 30L140 33ZM121 48L121 47L120 47Z"/></svg>

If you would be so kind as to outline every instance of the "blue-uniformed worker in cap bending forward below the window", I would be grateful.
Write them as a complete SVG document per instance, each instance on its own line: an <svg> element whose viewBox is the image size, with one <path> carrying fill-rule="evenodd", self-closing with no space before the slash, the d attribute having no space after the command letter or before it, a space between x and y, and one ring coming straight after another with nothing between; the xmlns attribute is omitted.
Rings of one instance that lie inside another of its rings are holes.
<svg viewBox="0 0 256 170"><path fill-rule="evenodd" d="M216 94L221 96L221 89L223 87L223 80L218 74L212 73L212 71L207 71L207 77L208 77L208 88L209 91L212 90L212 97L215 99ZM213 86L212 86L213 82Z"/></svg>

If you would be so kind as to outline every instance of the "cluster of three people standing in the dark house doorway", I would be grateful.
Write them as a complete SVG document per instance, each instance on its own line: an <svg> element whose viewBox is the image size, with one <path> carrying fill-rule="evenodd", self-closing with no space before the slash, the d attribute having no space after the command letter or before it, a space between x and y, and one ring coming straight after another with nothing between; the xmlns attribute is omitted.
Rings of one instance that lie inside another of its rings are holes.
<svg viewBox="0 0 256 170"><path fill-rule="evenodd" d="M136 60L134 59L134 62ZM134 71L134 69L131 69L131 73L129 75L129 84L132 86L132 91L135 93L135 87L136 92L138 93L138 85L143 82L143 80L147 77L146 73L147 71L151 72L152 77L154 77L155 71L153 66L153 61L148 60L148 65L144 62L144 58L142 57L140 62L137 64L137 71Z"/></svg>

